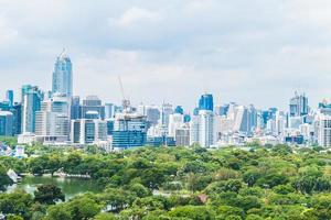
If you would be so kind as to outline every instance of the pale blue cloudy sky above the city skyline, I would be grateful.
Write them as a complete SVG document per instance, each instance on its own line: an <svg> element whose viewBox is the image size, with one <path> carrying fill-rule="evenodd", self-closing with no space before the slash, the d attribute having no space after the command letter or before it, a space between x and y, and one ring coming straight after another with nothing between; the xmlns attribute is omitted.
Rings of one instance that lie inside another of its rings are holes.
<svg viewBox="0 0 331 220"><path fill-rule="evenodd" d="M76 95L192 108L331 98L330 0L0 0L0 98L51 89L65 47Z"/></svg>

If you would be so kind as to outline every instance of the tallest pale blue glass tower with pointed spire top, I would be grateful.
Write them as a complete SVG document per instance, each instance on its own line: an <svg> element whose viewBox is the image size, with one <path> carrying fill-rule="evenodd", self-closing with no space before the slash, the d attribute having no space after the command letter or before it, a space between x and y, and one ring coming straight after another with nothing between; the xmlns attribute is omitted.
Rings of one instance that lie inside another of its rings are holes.
<svg viewBox="0 0 331 220"><path fill-rule="evenodd" d="M71 98L73 96L73 69L71 58L65 51L57 56L53 72L52 92L62 94Z"/></svg>

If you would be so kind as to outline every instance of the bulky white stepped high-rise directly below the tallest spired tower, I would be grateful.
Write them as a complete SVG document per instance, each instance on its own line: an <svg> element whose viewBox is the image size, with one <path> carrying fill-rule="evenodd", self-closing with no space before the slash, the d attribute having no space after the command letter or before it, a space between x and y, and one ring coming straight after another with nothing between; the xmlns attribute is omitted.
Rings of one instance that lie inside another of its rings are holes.
<svg viewBox="0 0 331 220"><path fill-rule="evenodd" d="M42 142L63 142L70 134L70 99L55 94L52 99L41 102L35 112L35 135Z"/></svg>

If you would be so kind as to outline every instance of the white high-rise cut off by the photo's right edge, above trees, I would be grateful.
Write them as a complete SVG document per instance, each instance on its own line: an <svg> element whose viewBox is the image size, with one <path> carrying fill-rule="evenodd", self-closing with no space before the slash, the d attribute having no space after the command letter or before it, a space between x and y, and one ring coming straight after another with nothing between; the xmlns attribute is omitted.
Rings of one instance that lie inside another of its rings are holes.
<svg viewBox="0 0 331 220"><path fill-rule="evenodd" d="M331 117L321 114L319 117L318 143L322 147L331 146Z"/></svg>

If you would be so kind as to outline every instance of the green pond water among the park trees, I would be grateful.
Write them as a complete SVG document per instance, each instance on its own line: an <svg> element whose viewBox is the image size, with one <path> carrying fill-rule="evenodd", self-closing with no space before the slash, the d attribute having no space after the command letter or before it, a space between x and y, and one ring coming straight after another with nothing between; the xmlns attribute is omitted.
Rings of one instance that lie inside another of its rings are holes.
<svg viewBox="0 0 331 220"><path fill-rule="evenodd" d="M96 185L92 179L84 178L64 178L51 176L25 176L21 183L14 184L7 188L8 193L14 189L23 189L33 195L38 186L44 184L53 184L60 187L65 195L65 200L73 198L76 195L85 194L87 191L100 193L102 188Z"/></svg>

